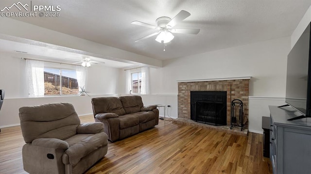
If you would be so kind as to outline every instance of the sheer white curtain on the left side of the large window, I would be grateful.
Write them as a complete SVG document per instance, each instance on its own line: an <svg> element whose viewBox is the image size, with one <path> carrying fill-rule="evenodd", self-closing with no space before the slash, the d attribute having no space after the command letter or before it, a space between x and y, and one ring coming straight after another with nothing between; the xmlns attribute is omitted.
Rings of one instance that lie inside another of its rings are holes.
<svg viewBox="0 0 311 174"><path fill-rule="evenodd" d="M26 59L29 97L44 97L44 62Z"/></svg>

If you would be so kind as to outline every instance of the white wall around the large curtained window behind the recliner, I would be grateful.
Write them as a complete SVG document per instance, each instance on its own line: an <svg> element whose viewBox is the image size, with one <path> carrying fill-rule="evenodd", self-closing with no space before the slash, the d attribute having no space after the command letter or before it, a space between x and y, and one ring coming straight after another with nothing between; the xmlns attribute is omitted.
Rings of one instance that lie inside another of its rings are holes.
<svg viewBox="0 0 311 174"><path fill-rule="evenodd" d="M25 78L25 60L16 54L0 52L0 89L5 99L0 111L0 128L18 125L18 109L22 106L70 102L79 116L92 114L91 98L118 96L120 69L94 65L88 68L87 91L89 96L57 96L28 98Z"/></svg>

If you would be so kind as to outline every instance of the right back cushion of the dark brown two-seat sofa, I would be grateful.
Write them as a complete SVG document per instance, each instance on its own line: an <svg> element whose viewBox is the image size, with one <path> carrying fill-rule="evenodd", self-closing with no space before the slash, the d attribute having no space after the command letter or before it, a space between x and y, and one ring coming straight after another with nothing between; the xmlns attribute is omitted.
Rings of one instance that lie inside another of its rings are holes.
<svg viewBox="0 0 311 174"><path fill-rule="evenodd" d="M121 103L126 114L133 114L140 111L143 103L140 96L121 96Z"/></svg>

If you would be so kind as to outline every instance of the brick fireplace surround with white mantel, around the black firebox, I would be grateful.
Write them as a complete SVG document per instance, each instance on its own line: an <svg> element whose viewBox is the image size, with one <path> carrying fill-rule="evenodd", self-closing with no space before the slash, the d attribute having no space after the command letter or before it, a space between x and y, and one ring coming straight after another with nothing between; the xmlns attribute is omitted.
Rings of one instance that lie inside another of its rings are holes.
<svg viewBox="0 0 311 174"><path fill-rule="evenodd" d="M234 99L243 102L244 117L248 119L249 80L250 77L237 77L178 81L178 118L190 119L191 91L225 91L227 125L230 125L231 101Z"/></svg>

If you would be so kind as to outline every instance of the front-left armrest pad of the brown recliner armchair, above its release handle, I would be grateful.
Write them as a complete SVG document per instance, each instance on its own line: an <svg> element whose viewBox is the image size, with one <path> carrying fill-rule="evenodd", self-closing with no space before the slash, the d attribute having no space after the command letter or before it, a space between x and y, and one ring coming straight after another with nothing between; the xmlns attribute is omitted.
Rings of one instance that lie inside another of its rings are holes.
<svg viewBox="0 0 311 174"><path fill-rule="evenodd" d="M69 148L69 144L66 141L56 138L37 138L32 142L32 145L54 149Z"/></svg>

